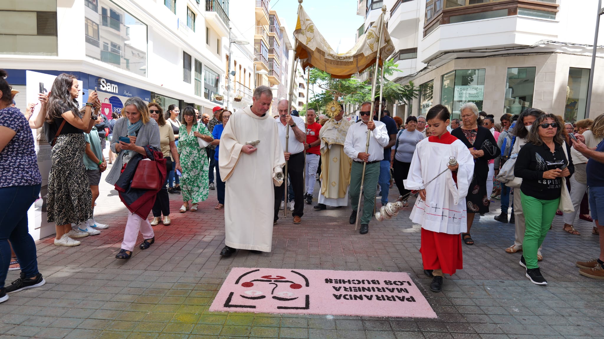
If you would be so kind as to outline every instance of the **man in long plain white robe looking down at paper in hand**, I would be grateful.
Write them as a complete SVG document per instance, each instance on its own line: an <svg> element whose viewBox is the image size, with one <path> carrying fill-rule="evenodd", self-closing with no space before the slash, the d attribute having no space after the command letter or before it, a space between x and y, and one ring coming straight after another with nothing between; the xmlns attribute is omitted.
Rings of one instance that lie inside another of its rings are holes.
<svg viewBox="0 0 604 339"><path fill-rule="evenodd" d="M226 237L221 256L230 256L237 248L252 253L271 251L273 187L283 182L276 175L281 173L285 158L277 125L267 113L271 88L256 88L252 102L252 106L231 115L220 138Z"/></svg>

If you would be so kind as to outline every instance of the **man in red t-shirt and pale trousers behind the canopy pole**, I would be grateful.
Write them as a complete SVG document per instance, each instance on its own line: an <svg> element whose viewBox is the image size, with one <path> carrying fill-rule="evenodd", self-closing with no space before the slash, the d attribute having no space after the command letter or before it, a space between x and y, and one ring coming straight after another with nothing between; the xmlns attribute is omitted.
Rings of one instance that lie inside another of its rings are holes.
<svg viewBox="0 0 604 339"><path fill-rule="evenodd" d="M306 143L304 150L306 152L306 198L307 204L312 204L312 193L315 190L316 169L319 167L319 159L321 158L321 140L319 139L319 131L321 124L315 121L316 113L314 109L306 111Z"/></svg>

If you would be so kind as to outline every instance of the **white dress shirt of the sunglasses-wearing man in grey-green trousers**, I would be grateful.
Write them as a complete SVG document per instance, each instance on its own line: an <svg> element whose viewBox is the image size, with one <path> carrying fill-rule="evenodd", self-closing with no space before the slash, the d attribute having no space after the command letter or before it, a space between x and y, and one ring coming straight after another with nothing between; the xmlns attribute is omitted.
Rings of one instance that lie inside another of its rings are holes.
<svg viewBox="0 0 604 339"><path fill-rule="evenodd" d="M386 124L382 121L373 121L376 128L371 131L369 138L369 159L367 161L384 160L384 147L390 142L390 135L386 130ZM359 153L365 152L367 146L367 124L362 120L350 126L344 141L344 153L353 161L362 161L359 159Z"/></svg>

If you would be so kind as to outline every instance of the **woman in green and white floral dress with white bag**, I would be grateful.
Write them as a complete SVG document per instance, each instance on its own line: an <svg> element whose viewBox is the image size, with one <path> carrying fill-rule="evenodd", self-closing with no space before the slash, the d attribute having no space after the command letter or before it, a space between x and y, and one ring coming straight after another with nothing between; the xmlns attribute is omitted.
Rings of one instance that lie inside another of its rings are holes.
<svg viewBox="0 0 604 339"><path fill-rule="evenodd" d="M194 212L197 210L197 204L208 198L209 179L208 170L210 161L208 161L205 149L199 147L198 137L204 141L211 142L210 131L203 124L198 124L195 117L195 111L191 106L182 110L182 124L178 132L178 153L180 155L182 177L182 207L180 212L187 210ZM189 206L189 201L193 202Z"/></svg>

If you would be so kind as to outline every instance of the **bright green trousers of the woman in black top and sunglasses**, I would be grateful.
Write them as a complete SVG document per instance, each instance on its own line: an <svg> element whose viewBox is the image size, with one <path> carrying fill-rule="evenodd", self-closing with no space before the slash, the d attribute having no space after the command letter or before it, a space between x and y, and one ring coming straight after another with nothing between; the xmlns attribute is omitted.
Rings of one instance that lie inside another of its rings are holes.
<svg viewBox="0 0 604 339"><path fill-rule="evenodd" d="M522 192L520 192L520 198L525 224L522 255L527 263L527 268L538 268L537 250L543 244L547 231L550 230L560 198L540 200Z"/></svg>

